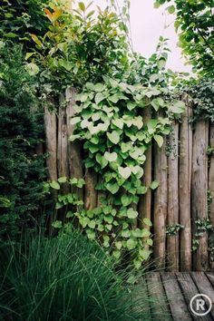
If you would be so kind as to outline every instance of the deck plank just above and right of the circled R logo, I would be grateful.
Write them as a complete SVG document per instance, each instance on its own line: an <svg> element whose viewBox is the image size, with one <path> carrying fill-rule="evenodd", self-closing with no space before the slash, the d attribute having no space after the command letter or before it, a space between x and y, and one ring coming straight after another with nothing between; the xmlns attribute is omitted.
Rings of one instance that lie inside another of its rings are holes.
<svg viewBox="0 0 214 321"><path fill-rule="evenodd" d="M199 288L199 293L207 295L211 301L214 302L214 289L205 273L191 272L191 277L193 278L196 286ZM214 318L214 306L212 306L210 314Z"/></svg>

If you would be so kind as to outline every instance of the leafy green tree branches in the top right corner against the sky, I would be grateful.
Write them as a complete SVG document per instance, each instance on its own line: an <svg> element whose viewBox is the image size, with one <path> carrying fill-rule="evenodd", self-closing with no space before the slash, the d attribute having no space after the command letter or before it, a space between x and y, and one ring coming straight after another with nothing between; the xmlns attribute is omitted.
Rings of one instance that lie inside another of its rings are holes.
<svg viewBox="0 0 214 321"><path fill-rule="evenodd" d="M213 0L157 0L155 6L169 3L168 11L176 14L180 47L201 75L214 75Z"/></svg>

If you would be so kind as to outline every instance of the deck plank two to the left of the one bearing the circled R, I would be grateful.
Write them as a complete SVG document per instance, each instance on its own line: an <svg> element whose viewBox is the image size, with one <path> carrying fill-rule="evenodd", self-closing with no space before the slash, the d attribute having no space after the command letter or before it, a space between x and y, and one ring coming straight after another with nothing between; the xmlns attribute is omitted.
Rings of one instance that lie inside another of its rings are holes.
<svg viewBox="0 0 214 321"><path fill-rule="evenodd" d="M160 273L148 273L147 287L151 297L152 320L171 320L170 307L161 283Z"/></svg>

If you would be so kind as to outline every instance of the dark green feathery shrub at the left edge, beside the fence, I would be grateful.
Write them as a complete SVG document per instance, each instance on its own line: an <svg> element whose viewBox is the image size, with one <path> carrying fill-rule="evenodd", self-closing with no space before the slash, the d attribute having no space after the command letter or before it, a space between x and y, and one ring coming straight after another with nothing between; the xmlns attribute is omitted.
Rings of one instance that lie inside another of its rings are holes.
<svg viewBox="0 0 214 321"><path fill-rule="evenodd" d="M43 199L44 158L35 153L44 139L43 113L34 78L23 65L22 46L0 48L0 239L29 227ZM37 108L37 110L36 110ZM33 112L33 110L35 111ZM41 216L41 213L40 215Z"/></svg>

